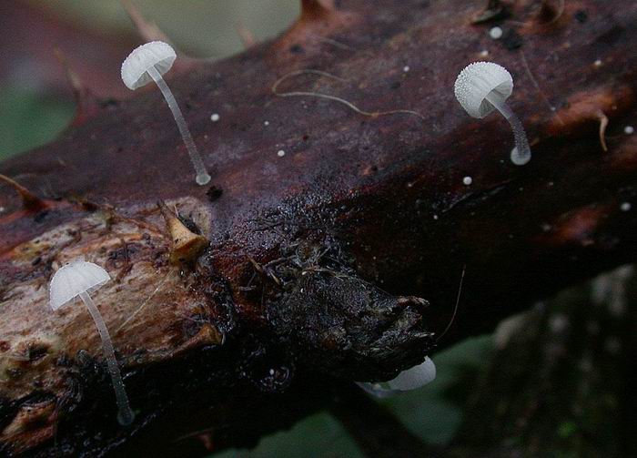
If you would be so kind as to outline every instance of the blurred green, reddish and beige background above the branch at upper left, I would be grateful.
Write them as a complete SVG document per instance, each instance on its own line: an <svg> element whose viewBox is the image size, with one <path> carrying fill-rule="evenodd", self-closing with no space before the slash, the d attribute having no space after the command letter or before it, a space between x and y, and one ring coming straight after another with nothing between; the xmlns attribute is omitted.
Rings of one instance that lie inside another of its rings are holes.
<svg viewBox="0 0 637 458"><path fill-rule="evenodd" d="M223 58L243 49L238 28L259 41L276 36L299 12L298 0L134 0L131 4L190 56ZM140 44L118 0L0 2L0 159L44 144L74 113L58 47L87 87L127 97L121 61Z"/></svg>

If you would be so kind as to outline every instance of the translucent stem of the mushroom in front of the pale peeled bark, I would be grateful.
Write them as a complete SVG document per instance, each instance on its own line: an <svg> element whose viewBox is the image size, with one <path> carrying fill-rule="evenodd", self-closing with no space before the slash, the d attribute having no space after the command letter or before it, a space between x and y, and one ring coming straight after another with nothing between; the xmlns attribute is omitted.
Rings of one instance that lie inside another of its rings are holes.
<svg viewBox="0 0 637 458"><path fill-rule="evenodd" d="M128 402L128 396L126 396L126 388L124 386L124 382L122 381L122 374L119 372L119 366L117 365L117 361L115 359L115 351L113 350L113 341L111 341L111 337L108 334L108 330L106 329L106 323L104 319L102 319L102 314L97 310L96 304L91 300L91 297L88 293L81 292L79 294L80 299L86 305L88 312L93 317L93 321L96 323L97 331L99 332L99 337L102 339L102 349L104 350L104 356L106 358L106 363L108 364L108 371L111 375L111 380L113 381L113 388L115 389L115 397L117 402L117 408L119 409L119 413L117 414L117 421L119 424L123 426L127 426L133 422L135 419L135 414L130 409L130 402Z"/></svg>

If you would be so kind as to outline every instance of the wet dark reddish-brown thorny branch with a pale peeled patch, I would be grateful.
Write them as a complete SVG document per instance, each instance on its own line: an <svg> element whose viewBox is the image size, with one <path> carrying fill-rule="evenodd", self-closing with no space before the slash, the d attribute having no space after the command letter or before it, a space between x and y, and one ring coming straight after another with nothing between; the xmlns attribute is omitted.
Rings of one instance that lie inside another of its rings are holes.
<svg viewBox="0 0 637 458"><path fill-rule="evenodd" d="M207 187L153 87L0 164L42 199L24 207L0 188L0 450L253 444L343 384L387 380L635 259L637 137L623 133L637 118L635 5L528 0L475 24L485 2L373 4L303 2L276 40L169 77ZM509 161L503 119L472 119L453 97L460 70L482 59L514 77L527 166ZM273 94L302 69L343 80L304 73L279 94L420 117ZM197 257L175 257L157 201L209 241ZM130 428L116 422L86 310L47 308L52 272L79 256L114 278L94 300L137 412Z"/></svg>

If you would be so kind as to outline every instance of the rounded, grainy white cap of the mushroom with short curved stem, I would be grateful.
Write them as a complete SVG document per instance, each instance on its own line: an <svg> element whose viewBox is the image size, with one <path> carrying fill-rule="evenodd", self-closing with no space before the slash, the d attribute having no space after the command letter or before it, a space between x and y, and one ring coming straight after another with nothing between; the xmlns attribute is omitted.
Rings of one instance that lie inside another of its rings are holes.
<svg viewBox="0 0 637 458"><path fill-rule="evenodd" d="M503 104L513 92L513 78L503 66L492 62L474 62L460 72L454 92L470 117L482 118L495 109L487 96Z"/></svg>

